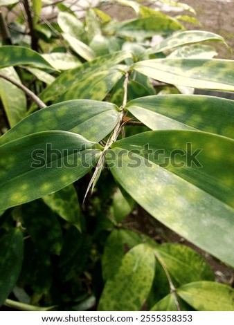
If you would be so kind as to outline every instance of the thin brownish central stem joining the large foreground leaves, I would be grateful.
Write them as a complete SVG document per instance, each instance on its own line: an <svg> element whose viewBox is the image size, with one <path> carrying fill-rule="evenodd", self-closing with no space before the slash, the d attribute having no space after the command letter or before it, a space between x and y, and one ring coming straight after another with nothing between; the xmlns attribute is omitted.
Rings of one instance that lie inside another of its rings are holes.
<svg viewBox="0 0 234 325"><path fill-rule="evenodd" d="M91 189L93 183L95 182L98 174L100 173L100 169L103 168L104 163L105 163L105 155L107 153L107 150L109 149L109 147L112 145L112 143L114 143L117 138L118 135L120 133L120 131L122 130L123 125L125 125L125 122L123 122L123 117L125 116L125 106L127 104L127 85L129 82L129 71L127 71L127 73L125 74L125 82L123 84L123 104L120 106L120 120L118 121L118 123L116 124L116 127L114 128L114 131L112 132L111 136L109 137L109 139L107 140L107 143L102 151L102 154L100 155L100 158L98 160L98 163L96 165L95 171L93 173L93 176L89 182L89 185L87 187L87 191L84 194L84 200L83 203L85 201L85 198L87 197L87 194L89 193L89 189Z"/></svg>

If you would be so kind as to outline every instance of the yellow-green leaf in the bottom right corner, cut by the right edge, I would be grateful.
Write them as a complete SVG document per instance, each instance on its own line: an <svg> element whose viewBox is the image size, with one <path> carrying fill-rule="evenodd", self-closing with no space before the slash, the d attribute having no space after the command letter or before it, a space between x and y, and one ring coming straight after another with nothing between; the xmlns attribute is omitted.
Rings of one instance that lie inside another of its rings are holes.
<svg viewBox="0 0 234 325"><path fill-rule="evenodd" d="M182 286L177 293L199 311L234 311L234 290L225 284L194 282Z"/></svg>

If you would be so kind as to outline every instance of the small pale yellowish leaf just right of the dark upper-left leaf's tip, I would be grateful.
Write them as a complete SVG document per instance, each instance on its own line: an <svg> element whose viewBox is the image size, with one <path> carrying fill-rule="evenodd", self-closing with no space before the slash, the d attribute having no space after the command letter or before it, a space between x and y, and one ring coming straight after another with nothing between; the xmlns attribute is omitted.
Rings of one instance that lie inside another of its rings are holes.
<svg viewBox="0 0 234 325"><path fill-rule="evenodd" d="M80 66L80 60L69 53L49 53L42 54L42 57L48 61L56 70L69 70Z"/></svg>

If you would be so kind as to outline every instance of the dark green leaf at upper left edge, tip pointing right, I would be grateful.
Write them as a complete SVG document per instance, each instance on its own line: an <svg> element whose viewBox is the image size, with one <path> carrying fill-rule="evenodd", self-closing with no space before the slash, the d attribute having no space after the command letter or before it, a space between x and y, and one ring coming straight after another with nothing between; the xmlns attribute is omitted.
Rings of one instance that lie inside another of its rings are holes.
<svg viewBox="0 0 234 325"><path fill-rule="evenodd" d="M37 68L53 69L42 55L23 46L0 46L0 68L28 64ZM54 69L53 69L54 70Z"/></svg>

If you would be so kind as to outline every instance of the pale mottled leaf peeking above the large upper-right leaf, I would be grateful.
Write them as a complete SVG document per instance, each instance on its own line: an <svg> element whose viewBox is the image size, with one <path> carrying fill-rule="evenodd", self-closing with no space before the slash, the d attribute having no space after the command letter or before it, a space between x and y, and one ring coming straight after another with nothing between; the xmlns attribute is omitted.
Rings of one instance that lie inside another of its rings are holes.
<svg viewBox="0 0 234 325"><path fill-rule="evenodd" d="M174 59L179 57L188 57L190 59L212 59L217 55L217 52L212 46L204 44L192 44L188 46L182 46L177 48L170 55L168 59Z"/></svg>

